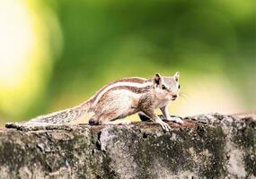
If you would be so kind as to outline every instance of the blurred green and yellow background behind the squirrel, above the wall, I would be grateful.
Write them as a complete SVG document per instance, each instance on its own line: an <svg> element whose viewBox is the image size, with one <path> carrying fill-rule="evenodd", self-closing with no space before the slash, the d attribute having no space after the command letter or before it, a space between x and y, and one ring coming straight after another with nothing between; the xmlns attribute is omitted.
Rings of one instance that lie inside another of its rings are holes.
<svg viewBox="0 0 256 179"><path fill-rule="evenodd" d="M172 115L256 109L256 1L0 1L0 124L181 72Z"/></svg>

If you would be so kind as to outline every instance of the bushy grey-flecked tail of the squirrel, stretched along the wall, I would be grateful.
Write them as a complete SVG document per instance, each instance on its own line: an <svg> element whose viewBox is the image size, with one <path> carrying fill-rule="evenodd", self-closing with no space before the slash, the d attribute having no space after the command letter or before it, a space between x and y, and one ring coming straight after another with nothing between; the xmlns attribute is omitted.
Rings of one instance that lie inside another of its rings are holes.
<svg viewBox="0 0 256 179"><path fill-rule="evenodd" d="M79 116L89 112L91 108L91 102L86 101L77 107L68 108L65 110L57 111L49 115L40 115L27 122L28 124L68 124L74 121Z"/></svg>

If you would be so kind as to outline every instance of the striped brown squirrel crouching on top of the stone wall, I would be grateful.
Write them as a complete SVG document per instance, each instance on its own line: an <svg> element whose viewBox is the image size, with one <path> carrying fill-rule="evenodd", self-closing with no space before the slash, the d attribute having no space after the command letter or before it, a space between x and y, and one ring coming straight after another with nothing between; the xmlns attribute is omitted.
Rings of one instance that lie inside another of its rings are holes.
<svg viewBox="0 0 256 179"><path fill-rule="evenodd" d="M154 109L160 108L167 121L182 124L177 117L171 117L168 104L179 97L180 72L173 76L154 74L153 79L139 77L125 78L110 82L98 90L92 98L84 103L57 111L49 115L40 115L28 124L69 124L88 113L93 114L89 124L113 124L119 118L138 114L150 118L160 124L164 131L169 132L170 126L155 115Z"/></svg>

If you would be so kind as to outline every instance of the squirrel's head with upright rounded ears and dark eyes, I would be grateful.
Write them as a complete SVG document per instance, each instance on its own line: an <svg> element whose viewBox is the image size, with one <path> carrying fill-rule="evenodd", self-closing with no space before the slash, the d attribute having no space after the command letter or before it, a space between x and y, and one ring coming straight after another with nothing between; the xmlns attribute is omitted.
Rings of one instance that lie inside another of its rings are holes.
<svg viewBox="0 0 256 179"><path fill-rule="evenodd" d="M175 72L173 76L161 76L156 73L153 78L154 90L157 97L166 100L175 100L179 97L181 85L179 82L180 72Z"/></svg>

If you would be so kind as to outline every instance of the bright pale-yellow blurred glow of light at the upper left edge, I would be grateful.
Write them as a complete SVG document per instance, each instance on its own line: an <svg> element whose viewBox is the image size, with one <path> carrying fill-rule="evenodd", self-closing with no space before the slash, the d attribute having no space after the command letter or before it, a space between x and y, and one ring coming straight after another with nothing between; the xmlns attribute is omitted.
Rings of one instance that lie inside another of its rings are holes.
<svg viewBox="0 0 256 179"><path fill-rule="evenodd" d="M48 81L51 53L60 49L61 34L54 14L39 5L32 1L0 2L0 112L7 117L28 113ZM58 49L50 47L49 36L53 35L57 35Z"/></svg>

